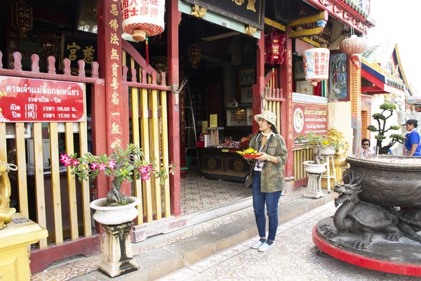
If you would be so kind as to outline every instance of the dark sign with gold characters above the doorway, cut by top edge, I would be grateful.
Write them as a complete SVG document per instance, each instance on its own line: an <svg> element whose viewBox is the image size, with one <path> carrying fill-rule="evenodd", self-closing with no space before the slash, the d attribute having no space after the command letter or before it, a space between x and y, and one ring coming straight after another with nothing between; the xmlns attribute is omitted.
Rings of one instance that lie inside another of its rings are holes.
<svg viewBox="0 0 421 281"><path fill-rule="evenodd" d="M265 0L183 0L207 8L245 25L263 30L265 25Z"/></svg>

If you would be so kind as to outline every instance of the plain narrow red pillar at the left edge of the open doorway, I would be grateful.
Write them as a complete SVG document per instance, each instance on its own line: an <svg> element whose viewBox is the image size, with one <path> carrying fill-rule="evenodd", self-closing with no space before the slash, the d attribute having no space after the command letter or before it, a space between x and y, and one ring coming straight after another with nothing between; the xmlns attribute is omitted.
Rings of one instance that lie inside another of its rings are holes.
<svg viewBox="0 0 421 281"><path fill-rule="evenodd" d="M178 25L180 24L181 13L178 11L178 0L168 0L168 84L174 86L179 81L179 57L178 57ZM178 96L171 92L168 96L168 148L170 152L170 163L174 163L175 175L170 175L171 192L171 214L181 214L181 193L180 193L180 117Z"/></svg>

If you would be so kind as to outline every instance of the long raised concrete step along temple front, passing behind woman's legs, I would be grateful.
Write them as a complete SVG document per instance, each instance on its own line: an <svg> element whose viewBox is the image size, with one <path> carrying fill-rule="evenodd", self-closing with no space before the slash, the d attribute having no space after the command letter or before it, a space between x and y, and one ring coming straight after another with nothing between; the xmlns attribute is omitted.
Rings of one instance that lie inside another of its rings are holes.
<svg viewBox="0 0 421 281"><path fill-rule="evenodd" d="M335 194L326 193L324 197L313 200L302 197L303 192L305 190L297 190L281 197L279 223L306 214L335 197ZM112 280L155 280L180 268L189 267L255 235L258 235L258 230L255 226L253 207L248 207L191 228L149 237L143 242L133 244L133 254L138 261L139 270L114 277ZM152 248L146 250L148 244ZM111 280L100 270L78 276L75 280Z"/></svg>

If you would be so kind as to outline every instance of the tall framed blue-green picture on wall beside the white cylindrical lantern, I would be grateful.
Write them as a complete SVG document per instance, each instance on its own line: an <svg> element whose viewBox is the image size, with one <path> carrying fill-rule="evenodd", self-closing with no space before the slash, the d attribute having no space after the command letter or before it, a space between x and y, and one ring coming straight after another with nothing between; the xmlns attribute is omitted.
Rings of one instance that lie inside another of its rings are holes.
<svg viewBox="0 0 421 281"><path fill-rule="evenodd" d="M348 101L348 65L345 53L330 53L329 99Z"/></svg>

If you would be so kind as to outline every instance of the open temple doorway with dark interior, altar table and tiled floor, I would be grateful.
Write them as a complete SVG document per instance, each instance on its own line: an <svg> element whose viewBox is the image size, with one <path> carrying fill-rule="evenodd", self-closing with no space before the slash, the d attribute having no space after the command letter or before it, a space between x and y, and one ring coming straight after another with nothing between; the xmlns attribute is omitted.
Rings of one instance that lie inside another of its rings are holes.
<svg viewBox="0 0 421 281"><path fill-rule="evenodd" d="M180 24L182 214L251 196L248 148L253 129L256 40L189 15ZM199 161L198 161L199 160Z"/></svg>

